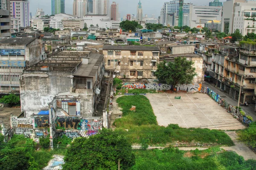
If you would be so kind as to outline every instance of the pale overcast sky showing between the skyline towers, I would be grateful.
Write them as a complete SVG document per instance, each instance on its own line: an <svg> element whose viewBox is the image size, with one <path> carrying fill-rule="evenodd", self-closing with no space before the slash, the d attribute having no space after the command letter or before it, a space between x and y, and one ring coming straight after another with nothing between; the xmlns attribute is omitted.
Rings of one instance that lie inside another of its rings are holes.
<svg viewBox="0 0 256 170"><path fill-rule="evenodd" d="M137 5L139 0L110 0L110 4L115 1L119 4L120 17L124 17L126 14L137 14ZM168 2L169 0L140 0L143 6L143 16L148 14L148 17L151 17L152 14L155 14L155 17L160 16L161 8L163 3ZM209 6L209 2L213 0L184 0L185 3L193 3L194 5L200 6ZM224 2L226 0L220 0ZM35 16L36 9L39 7L42 8L45 14L51 14L51 0L29 0L30 3L30 12L32 16ZM65 11L67 14L73 14L73 0L65 0Z"/></svg>

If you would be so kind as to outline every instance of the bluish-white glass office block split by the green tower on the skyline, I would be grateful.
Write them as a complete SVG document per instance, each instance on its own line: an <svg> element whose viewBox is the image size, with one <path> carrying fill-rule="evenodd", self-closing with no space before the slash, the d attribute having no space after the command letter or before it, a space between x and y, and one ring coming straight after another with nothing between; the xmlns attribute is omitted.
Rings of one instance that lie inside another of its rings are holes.
<svg viewBox="0 0 256 170"><path fill-rule="evenodd" d="M160 24L163 24L163 26L178 26L180 6L179 4L179 0L170 0L169 2L164 3L160 14ZM190 5L192 4L183 4L183 26L188 25L188 14Z"/></svg>

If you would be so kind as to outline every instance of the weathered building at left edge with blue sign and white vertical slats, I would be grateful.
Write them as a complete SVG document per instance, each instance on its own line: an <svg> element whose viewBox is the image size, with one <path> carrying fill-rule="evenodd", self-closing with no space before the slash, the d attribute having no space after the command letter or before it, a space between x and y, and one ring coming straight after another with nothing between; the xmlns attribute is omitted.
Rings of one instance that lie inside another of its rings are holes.
<svg viewBox="0 0 256 170"><path fill-rule="evenodd" d="M23 69L45 59L44 41L16 37L0 40L0 94L19 94L19 76Z"/></svg>

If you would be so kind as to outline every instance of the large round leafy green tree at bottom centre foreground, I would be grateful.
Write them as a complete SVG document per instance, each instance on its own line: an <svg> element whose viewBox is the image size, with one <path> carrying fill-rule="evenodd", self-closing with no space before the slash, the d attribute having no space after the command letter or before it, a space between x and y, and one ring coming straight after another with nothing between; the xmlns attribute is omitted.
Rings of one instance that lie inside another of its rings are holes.
<svg viewBox="0 0 256 170"><path fill-rule="evenodd" d="M64 169L127 170L135 164L131 144L124 136L103 129L90 138L77 138L67 149Z"/></svg>

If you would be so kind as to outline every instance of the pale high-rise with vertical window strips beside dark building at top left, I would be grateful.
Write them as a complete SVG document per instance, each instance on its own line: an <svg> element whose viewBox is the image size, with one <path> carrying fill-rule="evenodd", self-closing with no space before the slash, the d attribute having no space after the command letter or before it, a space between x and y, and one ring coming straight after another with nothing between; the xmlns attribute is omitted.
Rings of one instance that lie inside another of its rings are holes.
<svg viewBox="0 0 256 170"><path fill-rule="evenodd" d="M18 18L19 27L29 26L28 0L10 0L10 11L12 18Z"/></svg>

